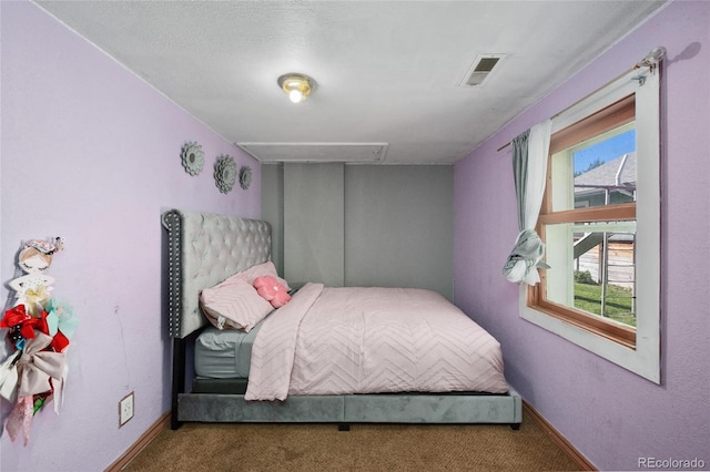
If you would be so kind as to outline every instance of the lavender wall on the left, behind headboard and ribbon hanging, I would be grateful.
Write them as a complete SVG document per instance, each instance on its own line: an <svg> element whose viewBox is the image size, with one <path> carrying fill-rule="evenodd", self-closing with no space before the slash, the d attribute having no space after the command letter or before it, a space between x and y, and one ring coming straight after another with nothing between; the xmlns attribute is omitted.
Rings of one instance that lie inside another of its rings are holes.
<svg viewBox="0 0 710 472"><path fill-rule="evenodd" d="M60 414L41 411L27 448L2 434L0 469L103 470L170 409L162 211L260 217L260 165L37 6L0 8L2 299L21 240L61 235L49 273L81 319ZM205 151L195 177L180 161L186 141ZM217 191L220 154L252 167L248 191ZM130 391L135 417L119 429Z"/></svg>

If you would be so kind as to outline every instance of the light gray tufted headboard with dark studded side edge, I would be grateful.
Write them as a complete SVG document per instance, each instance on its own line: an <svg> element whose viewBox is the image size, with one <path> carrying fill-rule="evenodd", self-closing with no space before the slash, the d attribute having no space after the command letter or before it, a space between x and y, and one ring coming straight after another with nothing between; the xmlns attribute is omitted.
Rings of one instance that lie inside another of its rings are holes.
<svg viewBox="0 0 710 472"><path fill-rule="evenodd" d="M207 324L200 290L271 259L271 226L211 213L171 209L168 229L168 311L170 336L184 338Z"/></svg>

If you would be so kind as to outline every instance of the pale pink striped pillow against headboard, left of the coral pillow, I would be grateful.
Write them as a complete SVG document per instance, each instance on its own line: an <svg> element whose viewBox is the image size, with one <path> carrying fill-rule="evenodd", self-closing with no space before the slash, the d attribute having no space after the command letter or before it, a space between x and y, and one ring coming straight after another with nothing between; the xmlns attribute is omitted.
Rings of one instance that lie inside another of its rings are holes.
<svg viewBox="0 0 710 472"><path fill-rule="evenodd" d="M274 307L256 289L234 276L200 293L202 312L217 329L232 328L248 332Z"/></svg>

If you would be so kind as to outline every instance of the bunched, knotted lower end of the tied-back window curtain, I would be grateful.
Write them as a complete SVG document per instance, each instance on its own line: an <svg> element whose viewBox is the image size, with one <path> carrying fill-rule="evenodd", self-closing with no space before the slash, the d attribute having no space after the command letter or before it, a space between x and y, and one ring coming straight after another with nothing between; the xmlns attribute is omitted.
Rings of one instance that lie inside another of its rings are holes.
<svg viewBox="0 0 710 472"><path fill-rule="evenodd" d="M542 261L545 243L535 229L524 229L518 235L515 246L503 267L503 274L508 281L535 285L540 281L538 268L549 269L550 266Z"/></svg>

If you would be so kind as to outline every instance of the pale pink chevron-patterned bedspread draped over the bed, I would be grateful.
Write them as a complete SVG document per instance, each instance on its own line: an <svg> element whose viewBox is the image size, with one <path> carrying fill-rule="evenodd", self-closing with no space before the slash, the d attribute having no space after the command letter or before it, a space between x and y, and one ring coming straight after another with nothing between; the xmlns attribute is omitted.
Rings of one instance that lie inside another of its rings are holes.
<svg viewBox="0 0 710 472"><path fill-rule="evenodd" d="M245 399L507 390L498 341L443 296L308 284L264 320Z"/></svg>

